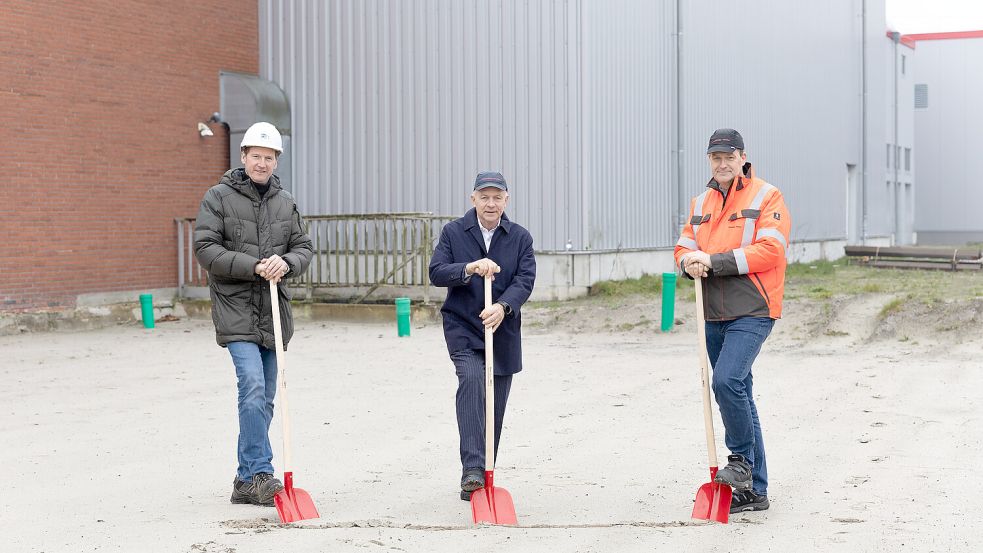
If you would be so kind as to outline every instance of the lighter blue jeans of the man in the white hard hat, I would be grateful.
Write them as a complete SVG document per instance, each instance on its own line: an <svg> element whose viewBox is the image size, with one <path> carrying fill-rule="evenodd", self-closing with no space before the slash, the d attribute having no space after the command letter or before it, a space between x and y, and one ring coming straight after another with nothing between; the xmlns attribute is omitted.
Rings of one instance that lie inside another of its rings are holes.
<svg viewBox="0 0 983 553"><path fill-rule="evenodd" d="M252 342L228 345L239 381L239 480L273 474L270 422L276 396L276 351Z"/></svg>

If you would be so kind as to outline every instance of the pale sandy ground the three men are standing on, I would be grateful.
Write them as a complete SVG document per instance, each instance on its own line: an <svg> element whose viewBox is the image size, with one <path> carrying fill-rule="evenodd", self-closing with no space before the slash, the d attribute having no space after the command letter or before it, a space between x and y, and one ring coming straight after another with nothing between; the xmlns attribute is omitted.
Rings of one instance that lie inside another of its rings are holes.
<svg viewBox="0 0 983 553"><path fill-rule="evenodd" d="M983 338L869 340L852 309L765 345L772 508L728 525L689 518L708 479L692 321L529 329L496 472L517 528L473 526L457 496L439 326L299 323L294 472L321 518L291 526L228 501L235 378L210 322L2 337L0 551L978 551Z"/></svg>

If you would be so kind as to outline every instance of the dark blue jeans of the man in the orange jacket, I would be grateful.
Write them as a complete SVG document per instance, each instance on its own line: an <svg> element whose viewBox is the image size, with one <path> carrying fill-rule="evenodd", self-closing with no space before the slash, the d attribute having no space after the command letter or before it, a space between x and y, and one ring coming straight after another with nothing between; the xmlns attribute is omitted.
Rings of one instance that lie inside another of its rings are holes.
<svg viewBox="0 0 983 553"><path fill-rule="evenodd" d="M724 421L724 443L751 465L752 490L758 495L768 495L768 465L751 394L751 365L773 326L775 320L768 317L706 323L713 395Z"/></svg>

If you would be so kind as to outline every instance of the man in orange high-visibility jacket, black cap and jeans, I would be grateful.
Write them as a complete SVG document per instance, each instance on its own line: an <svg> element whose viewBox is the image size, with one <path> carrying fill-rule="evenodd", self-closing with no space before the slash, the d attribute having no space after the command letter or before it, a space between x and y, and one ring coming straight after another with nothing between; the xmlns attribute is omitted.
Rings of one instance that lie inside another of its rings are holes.
<svg viewBox="0 0 983 553"><path fill-rule="evenodd" d="M701 277L713 392L731 455L715 481L734 488L730 512L768 508L768 470L751 365L782 316L789 221L777 188L754 176L744 139L733 129L710 137L713 175L693 198L675 257Z"/></svg>

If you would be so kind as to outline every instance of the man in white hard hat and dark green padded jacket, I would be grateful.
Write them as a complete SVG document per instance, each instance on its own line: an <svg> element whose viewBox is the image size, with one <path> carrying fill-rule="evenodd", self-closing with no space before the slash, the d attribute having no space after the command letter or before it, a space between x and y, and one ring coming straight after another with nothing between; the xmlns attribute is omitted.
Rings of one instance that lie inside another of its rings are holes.
<svg viewBox="0 0 983 553"><path fill-rule="evenodd" d="M313 250L294 197L273 174L283 153L269 123L246 130L245 167L230 169L205 193L195 223L195 255L208 271L218 344L228 348L239 388L239 469L232 503L273 505L283 484L273 476L269 429L276 395L276 345L268 281L277 282L284 347L293 335L283 278L307 270Z"/></svg>

